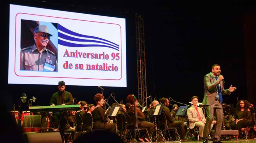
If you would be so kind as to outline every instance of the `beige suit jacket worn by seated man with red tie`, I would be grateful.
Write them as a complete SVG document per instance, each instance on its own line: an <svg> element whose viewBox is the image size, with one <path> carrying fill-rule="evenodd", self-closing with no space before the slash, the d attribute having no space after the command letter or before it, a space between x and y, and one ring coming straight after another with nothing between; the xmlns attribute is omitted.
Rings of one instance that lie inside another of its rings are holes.
<svg viewBox="0 0 256 143"><path fill-rule="evenodd" d="M197 107L197 110L200 114L202 121L206 121L204 114L203 114L203 109L200 107ZM190 108L187 109L187 117L189 120L189 128L193 129L195 127L195 123L199 121L199 116L197 114L196 109L193 106L191 106Z"/></svg>

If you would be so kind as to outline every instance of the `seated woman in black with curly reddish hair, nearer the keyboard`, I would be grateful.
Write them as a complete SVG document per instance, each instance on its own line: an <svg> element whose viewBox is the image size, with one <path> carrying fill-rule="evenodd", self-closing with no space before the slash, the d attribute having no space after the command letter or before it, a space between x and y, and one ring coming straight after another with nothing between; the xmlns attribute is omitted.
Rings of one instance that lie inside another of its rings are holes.
<svg viewBox="0 0 256 143"><path fill-rule="evenodd" d="M93 128L94 129L105 129L109 130L111 132L116 131L116 125L113 123L108 123L107 118L104 115L104 110L103 110L103 104L104 104L104 97L102 94L96 94L94 96L94 100L96 102L96 106L94 110L92 111L92 117L93 117Z"/></svg>

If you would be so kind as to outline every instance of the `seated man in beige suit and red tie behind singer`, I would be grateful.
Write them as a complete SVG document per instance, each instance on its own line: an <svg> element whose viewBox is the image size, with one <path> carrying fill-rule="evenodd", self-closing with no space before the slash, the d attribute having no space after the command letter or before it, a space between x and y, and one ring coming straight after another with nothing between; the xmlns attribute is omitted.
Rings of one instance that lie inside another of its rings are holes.
<svg viewBox="0 0 256 143"><path fill-rule="evenodd" d="M199 127L199 141L203 141L203 131L206 119L203 114L203 109L197 107L198 97L193 96L191 98L192 106L187 109L187 117L189 120L189 128L193 129L195 126ZM211 125L211 128L213 124Z"/></svg>

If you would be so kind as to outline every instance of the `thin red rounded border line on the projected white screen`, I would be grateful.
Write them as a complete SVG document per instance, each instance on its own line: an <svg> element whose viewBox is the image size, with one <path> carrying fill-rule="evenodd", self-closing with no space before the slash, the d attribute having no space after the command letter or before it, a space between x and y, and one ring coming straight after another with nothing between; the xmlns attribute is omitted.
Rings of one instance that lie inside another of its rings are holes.
<svg viewBox="0 0 256 143"><path fill-rule="evenodd" d="M28 15L37 15L37 14L30 14L30 13L17 13L15 16L15 56L14 56L14 73L16 74L16 24L17 24L17 15L18 14L28 14ZM37 15L37 16L46 16L46 15ZM61 19L69 19L69 18L62 18L62 17L55 17L55 16L46 16L46 17L53 17L53 18L61 18ZM89 20L81 20L81 19L70 19L70 20L79 20L79 21L87 21L87 22L97 22L97 21L89 21ZM49 77L49 78L74 78L74 79L91 79L91 80L121 80L123 75L122 75L122 28L119 24L115 23L107 23L107 22L97 22L97 23L105 23L105 24L114 24L118 25L120 27L120 35L121 35L121 77L120 79L99 79L99 78L79 78L79 77ZM20 76L16 74L18 77L44 77L44 76Z"/></svg>

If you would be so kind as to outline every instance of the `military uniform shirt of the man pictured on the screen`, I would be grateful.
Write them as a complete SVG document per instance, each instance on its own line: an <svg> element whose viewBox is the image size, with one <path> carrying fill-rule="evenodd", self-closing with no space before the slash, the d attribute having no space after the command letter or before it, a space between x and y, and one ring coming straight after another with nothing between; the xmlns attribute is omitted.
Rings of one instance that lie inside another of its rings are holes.
<svg viewBox="0 0 256 143"><path fill-rule="evenodd" d="M30 46L21 50L20 70L44 70L45 63L55 66L54 71L58 71L58 63L55 54L44 47L42 53L37 47Z"/></svg>

